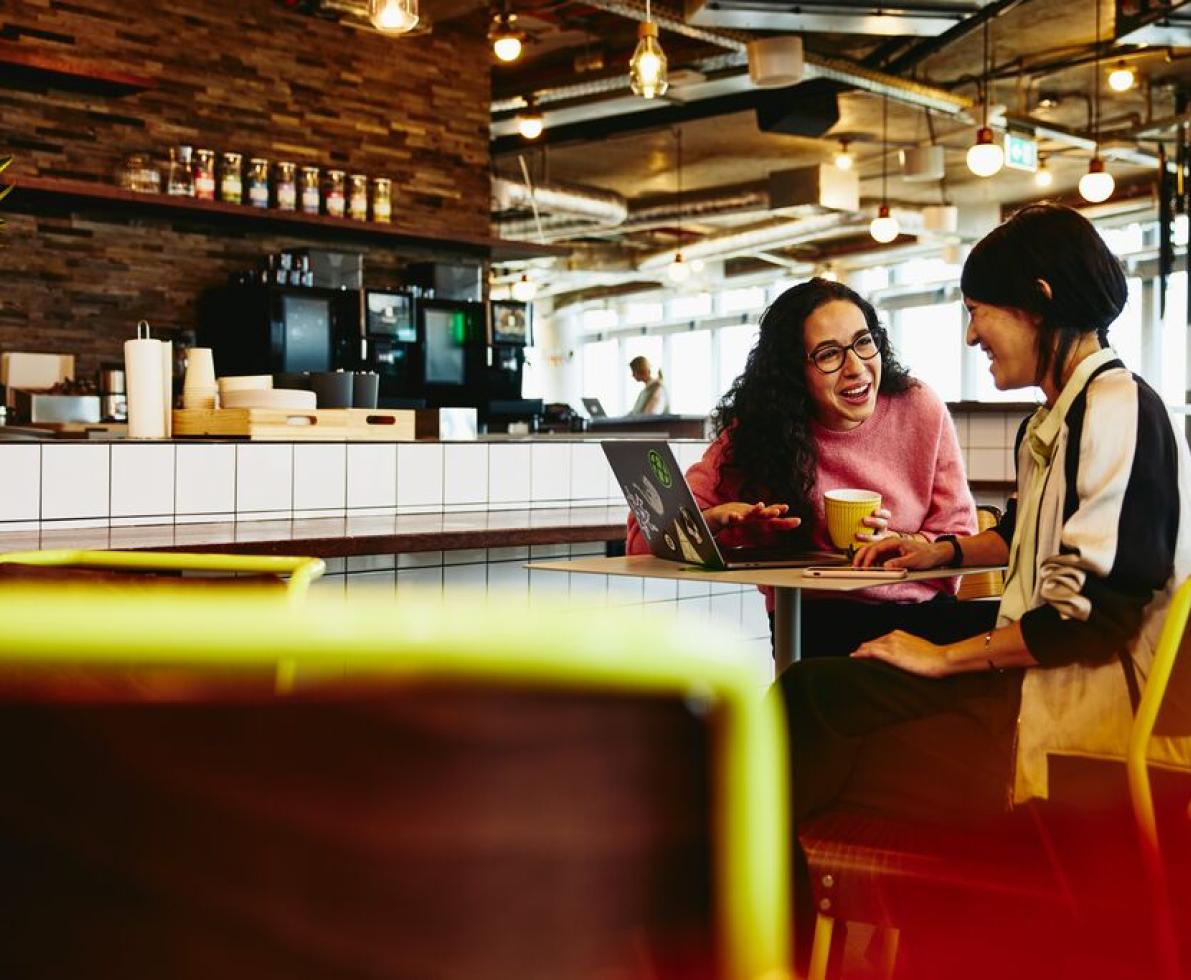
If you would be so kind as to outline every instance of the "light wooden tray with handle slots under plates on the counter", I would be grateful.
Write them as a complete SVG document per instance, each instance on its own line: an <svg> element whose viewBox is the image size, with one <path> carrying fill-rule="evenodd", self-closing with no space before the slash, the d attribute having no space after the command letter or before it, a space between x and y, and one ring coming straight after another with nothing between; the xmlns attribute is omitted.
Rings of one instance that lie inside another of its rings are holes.
<svg viewBox="0 0 1191 980"><path fill-rule="evenodd" d="M274 442L405 442L414 437L410 408L175 408L174 436Z"/></svg>

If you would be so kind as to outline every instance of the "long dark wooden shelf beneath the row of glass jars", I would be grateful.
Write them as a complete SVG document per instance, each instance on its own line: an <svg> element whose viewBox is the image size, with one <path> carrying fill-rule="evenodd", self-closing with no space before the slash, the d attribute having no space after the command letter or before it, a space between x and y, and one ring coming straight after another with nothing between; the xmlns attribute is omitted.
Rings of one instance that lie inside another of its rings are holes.
<svg viewBox="0 0 1191 980"><path fill-rule="evenodd" d="M270 233L291 231L317 238L392 243L450 249L488 256L495 261L566 255L567 249L538 245L532 242L511 242L480 235L445 235L431 231L411 231L399 223L381 224L337 218L329 214L306 214L298 211L258 208L243 204L208 201L199 198L145 194L126 191L110 183L50 176L6 175L6 183L15 189L5 201L14 213L46 213L79 208L119 211L121 213L154 214L164 218L192 218L210 223L212 227L237 227Z"/></svg>

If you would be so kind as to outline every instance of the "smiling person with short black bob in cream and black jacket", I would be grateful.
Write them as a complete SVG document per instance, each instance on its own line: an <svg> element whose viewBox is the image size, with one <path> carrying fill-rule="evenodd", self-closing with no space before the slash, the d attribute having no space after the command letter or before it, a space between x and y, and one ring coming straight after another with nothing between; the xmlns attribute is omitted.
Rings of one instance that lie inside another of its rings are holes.
<svg viewBox="0 0 1191 980"><path fill-rule="evenodd" d="M787 670L796 819L841 806L992 816L1048 794L1048 753L1123 759L1191 573L1187 448L1105 345L1127 291L1096 229L1066 207L1027 207L973 248L961 286L967 343L997 387L1045 397L1017 435L1015 500L993 530L883 539L858 563L1008 563L997 623L950 643L893 632ZM1156 742L1164 761L1191 764L1191 739Z"/></svg>

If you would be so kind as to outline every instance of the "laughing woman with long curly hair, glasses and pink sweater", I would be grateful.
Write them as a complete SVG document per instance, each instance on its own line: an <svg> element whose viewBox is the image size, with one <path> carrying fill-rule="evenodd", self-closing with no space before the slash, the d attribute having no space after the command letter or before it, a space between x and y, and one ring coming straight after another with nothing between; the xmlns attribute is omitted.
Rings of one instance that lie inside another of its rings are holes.
<svg viewBox="0 0 1191 980"><path fill-rule="evenodd" d="M784 535L830 549L823 493L841 488L881 494L858 545L975 530L946 406L897 362L872 305L838 282L799 283L765 311L715 423L716 441L686 476L721 544ZM646 550L630 518L629 551ZM805 655L842 656L898 628L948 639L991 625L985 604L958 604L954 588L954 578L934 579L807 601ZM773 591L762 592L772 623Z"/></svg>

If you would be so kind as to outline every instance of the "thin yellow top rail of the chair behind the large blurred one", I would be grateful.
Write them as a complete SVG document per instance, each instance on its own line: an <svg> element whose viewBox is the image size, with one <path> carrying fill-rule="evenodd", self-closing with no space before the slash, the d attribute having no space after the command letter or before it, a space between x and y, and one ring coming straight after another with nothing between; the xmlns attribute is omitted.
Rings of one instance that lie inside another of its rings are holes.
<svg viewBox="0 0 1191 980"><path fill-rule="evenodd" d="M326 572L322 558L285 555L222 555L193 551L8 551L0 564L29 564L42 568L93 568L112 572L235 572L249 575L288 575L291 598L306 594L310 583Z"/></svg>

